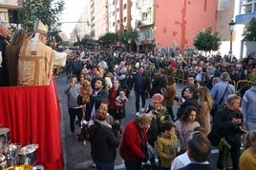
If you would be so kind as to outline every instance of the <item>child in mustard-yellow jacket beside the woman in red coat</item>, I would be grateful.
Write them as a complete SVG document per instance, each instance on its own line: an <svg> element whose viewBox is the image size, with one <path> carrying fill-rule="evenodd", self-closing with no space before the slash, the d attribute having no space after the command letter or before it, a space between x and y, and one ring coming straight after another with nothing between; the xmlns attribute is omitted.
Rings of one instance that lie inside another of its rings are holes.
<svg viewBox="0 0 256 170"><path fill-rule="evenodd" d="M169 170L172 161L175 159L178 152L179 141L175 134L175 124L170 121L165 121L162 124L162 135L157 141L158 156L160 158L160 168Z"/></svg>

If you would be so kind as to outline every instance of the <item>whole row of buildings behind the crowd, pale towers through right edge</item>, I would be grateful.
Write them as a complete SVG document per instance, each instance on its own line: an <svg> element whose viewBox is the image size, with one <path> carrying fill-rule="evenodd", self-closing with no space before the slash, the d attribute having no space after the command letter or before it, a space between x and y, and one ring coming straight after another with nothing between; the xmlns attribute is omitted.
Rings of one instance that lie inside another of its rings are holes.
<svg viewBox="0 0 256 170"><path fill-rule="evenodd" d="M95 39L107 32L138 30L140 52L179 47L183 53L185 48L193 47L199 31L211 28L220 32L219 51L228 54L231 20L236 23L232 55L245 57L255 47L243 41L245 25L256 17L255 0L90 0L90 8L84 10L83 17L89 21L87 32Z"/></svg>

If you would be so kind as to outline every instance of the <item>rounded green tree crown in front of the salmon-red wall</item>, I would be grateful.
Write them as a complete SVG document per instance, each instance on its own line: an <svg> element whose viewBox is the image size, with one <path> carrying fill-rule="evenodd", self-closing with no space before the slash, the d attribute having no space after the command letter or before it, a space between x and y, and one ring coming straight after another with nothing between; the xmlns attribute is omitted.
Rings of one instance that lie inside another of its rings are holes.
<svg viewBox="0 0 256 170"><path fill-rule="evenodd" d="M207 28L205 31L200 31L194 39L194 46L197 49L204 51L216 51L221 44L219 32L212 33L211 28Z"/></svg>

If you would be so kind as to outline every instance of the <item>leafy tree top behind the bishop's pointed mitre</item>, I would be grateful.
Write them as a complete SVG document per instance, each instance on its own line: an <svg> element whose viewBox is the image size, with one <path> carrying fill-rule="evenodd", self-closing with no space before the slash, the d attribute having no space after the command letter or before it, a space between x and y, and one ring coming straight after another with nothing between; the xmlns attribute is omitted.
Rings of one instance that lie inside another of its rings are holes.
<svg viewBox="0 0 256 170"><path fill-rule="evenodd" d="M23 7L18 9L20 24L27 32L33 31L33 25L36 18L49 26L49 34L57 37L61 24L59 16L64 9L63 0L27 0Z"/></svg>

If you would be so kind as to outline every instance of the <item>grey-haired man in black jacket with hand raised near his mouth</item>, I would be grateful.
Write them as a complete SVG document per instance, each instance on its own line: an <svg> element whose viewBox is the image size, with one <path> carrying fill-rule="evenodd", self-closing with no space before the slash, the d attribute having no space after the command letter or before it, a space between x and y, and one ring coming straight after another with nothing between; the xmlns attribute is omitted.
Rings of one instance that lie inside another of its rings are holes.
<svg viewBox="0 0 256 170"><path fill-rule="evenodd" d="M226 99L226 105L216 112L212 125L212 131L215 131L219 136L224 137L226 142L231 146L230 155L234 170L239 169L241 135L243 134L243 131L239 127L243 123L243 114L240 103L240 96L236 94L229 95ZM224 168L224 164L221 162L220 157L222 154L223 152L220 150L217 161L217 168L220 169Z"/></svg>

